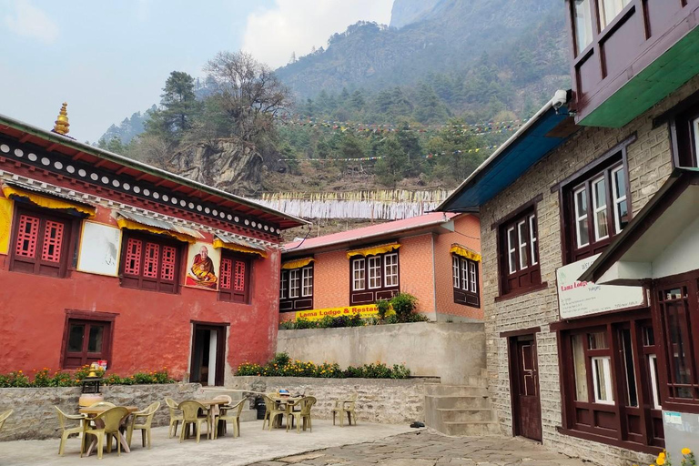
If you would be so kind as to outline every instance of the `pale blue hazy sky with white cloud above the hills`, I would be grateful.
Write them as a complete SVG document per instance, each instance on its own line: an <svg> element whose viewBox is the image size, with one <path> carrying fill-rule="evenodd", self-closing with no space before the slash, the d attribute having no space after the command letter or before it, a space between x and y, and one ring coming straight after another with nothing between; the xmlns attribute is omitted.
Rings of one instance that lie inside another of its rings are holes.
<svg viewBox="0 0 699 466"><path fill-rule="evenodd" d="M95 141L159 102L167 75L202 76L220 50L269 66L325 46L360 19L388 24L392 0L0 0L0 114Z"/></svg>

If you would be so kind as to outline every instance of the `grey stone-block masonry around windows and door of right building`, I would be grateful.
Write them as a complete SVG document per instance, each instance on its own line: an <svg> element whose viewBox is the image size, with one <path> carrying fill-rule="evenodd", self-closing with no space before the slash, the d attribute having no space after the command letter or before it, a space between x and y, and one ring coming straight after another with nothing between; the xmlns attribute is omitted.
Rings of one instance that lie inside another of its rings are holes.
<svg viewBox="0 0 699 466"><path fill-rule="evenodd" d="M489 384L493 408L497 410L502 432L512 435L512 409L507 357L507 341L500 333L507 330L541 326L536 335L542 397L543 443L555 451L579 455L603 464L649 464L648 455L583 441L562 435L562 402L555 332L549 324L559 320L556 292L556 268L562 266L562 215L558 193L551 187L576 170L601 157L612 147L631 136L637 139L628 147L629 183L632 212L635 215L661 187L672 171L671 142L667 125L653 129L653 117L664 113L699 88L699 76L673 95L654 106L643 116L623 128L585 127L559 147L511 187L481 208L481 247L483 257L483 297ZM542 282L548 287L523 296L494 302L498 295L496 231L493 222L505 217L538 195L536 206L539 223L539 254Z"/></svg>

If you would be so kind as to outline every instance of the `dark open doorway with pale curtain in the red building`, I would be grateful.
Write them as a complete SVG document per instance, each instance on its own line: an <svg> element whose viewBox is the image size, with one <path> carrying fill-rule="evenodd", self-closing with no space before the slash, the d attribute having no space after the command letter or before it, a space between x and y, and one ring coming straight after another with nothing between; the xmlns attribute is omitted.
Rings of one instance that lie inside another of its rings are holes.
<svg viewBox="0 0 699 466"><path fill-rule="evenodd" d="M223 386L226 360L226 326L193 324L190 382Z"/></svg>

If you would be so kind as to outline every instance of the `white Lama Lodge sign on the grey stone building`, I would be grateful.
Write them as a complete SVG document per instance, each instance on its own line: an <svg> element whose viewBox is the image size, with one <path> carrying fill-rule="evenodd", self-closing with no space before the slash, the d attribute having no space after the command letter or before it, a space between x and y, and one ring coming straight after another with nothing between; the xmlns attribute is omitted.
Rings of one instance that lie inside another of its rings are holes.
<svg viewBox="0 0 699 466"><path fill-rule="evenodd" d="M599 256L597 254L592 258L583 258L556 270L561 319L590 316L644 304L643 287L595 285L592 281L578 281Z"/></svg>

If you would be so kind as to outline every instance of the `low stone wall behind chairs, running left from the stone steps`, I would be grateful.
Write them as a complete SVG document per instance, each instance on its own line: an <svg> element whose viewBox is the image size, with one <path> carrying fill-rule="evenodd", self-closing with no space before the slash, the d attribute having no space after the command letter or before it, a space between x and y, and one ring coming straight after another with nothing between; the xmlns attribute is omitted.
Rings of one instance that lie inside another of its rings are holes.
<svg viewBox="0 0 699 466"><path fill-rule="evenodd" d="M357 393L357 419L365 422L404 424L425 420L425 385L420 379L315 379L309 377L234 377L228 388L267 393L279 389L313 396L318 402L313 417L332 419L335 400Z"/></svg>

